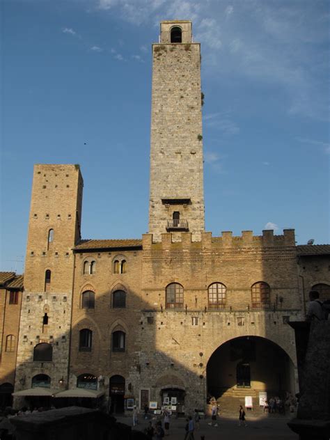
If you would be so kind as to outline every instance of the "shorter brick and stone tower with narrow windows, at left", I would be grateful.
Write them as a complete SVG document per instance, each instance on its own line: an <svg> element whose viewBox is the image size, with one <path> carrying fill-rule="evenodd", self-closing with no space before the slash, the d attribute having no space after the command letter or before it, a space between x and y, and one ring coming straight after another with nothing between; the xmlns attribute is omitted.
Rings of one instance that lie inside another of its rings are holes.
<svg viewBox="0 0 330 440"><path fill-rule="evenodd" d="M34 167L15 391L40 382L56 389L68 379L82 189L78 165Z"/></svg>

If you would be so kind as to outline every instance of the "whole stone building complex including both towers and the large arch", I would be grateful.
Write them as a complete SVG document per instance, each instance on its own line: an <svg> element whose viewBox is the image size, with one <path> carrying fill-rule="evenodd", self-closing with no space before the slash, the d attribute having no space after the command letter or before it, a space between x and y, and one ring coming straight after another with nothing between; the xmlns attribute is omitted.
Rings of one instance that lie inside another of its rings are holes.
<svg viewBox="0 0 330 440"><path fill-rule="evenodd" d="M291 229L205 232L191 22L162 22L152 58L147 234L81 239L79 166L35 167L16 406L36 388L64 399L104 395L115 412L129 399L141 408L168 399L182 413L205 409L207 395L243 390L258 404L260 391L297 391L288 322L304 319L310 288L327 295L330 246L296 246Z"/></svg>

